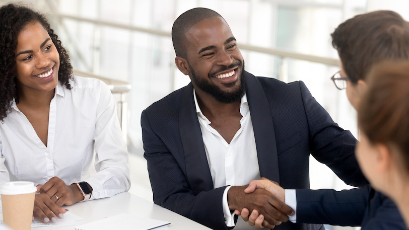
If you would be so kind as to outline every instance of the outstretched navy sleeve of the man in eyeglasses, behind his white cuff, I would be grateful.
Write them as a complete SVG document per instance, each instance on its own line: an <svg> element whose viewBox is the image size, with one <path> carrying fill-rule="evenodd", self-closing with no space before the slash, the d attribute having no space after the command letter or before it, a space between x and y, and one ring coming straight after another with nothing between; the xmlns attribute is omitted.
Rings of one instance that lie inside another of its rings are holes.
<svg viewBox="0 0 409 230"><path fill-rule="evenodd" d="M369 186L342 191L297 189L297 222L361 226L369 191Z"/></svg>

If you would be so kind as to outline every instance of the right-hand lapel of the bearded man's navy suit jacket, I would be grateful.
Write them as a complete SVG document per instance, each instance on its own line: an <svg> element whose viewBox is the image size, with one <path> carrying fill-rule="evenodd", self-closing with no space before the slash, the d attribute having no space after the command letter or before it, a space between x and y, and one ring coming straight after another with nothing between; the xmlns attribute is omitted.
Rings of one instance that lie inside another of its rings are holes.
<svg viewBox="0 0 409 230"><path fill-rule="evenodd" d="M254 75L245 72L245 81L260 176L280 183L276 135L267 98Z"/></svg>

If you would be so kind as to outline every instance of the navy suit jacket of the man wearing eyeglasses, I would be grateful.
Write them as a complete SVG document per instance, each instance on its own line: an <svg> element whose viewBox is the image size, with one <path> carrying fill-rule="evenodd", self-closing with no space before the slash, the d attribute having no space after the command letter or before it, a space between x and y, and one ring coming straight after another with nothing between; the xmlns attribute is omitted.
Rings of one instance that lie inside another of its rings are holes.
<svg viewBox="0 0 409 230"><path fill-rule="evenodd" d="M360 189L296 190L297 222L407 230L394 202L369 185Z"/></svg>

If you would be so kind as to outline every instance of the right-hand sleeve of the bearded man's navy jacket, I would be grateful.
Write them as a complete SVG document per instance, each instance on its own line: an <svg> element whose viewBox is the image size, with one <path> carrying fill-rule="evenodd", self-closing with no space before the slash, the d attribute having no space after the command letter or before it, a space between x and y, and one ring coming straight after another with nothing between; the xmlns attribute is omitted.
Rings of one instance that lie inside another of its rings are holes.
<svg viewBox="0 0 409 230"><path fill-rule="evenodd" d="M367 185L368 181L355 157L357 140L349 130L344 130L333 122L305 84L299 83L310 129L311 155L327 165L346 184L356 187Z"/></svg>

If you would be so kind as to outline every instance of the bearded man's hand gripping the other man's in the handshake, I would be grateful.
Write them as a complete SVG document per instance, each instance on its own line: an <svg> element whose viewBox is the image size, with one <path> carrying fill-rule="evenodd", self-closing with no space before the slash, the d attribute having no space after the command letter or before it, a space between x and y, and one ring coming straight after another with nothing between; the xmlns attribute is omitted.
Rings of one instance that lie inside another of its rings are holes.
<svg viewBox="0 0 409 230"><path fill-rule="evenodd" d="M243 210L243 208L251 211L257 210L269 223L269 226L286 222L287 215L291 215L294 212L293 209L267 190L256 188L256 186L257 184L252 185L248 193L244 192L247 186L231 187L227 193L229 208L231 210Z"/></svg>

